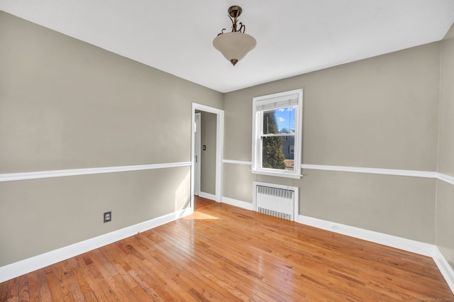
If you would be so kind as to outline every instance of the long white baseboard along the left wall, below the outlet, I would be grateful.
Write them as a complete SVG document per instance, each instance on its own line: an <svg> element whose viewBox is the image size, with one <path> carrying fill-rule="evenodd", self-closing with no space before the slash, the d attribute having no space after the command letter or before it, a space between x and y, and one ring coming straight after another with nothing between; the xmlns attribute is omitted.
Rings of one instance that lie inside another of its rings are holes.
<svg viewBox="0 0 454 302"><path fill-rule="evenodd" d="M93 237L88 240L74 243L73 245L67 245L66 247L61 247L57 250L45 252L41 255L5 265L4 267L0 267L0 283L23 274L28 274L29 272L33 272L37 269L42 269L43 267L47 267L65 259L81 255L84 252L89 252L99 247L103 247L104 245L109 245L126 237L131 237L135 234L144 232L145 230L150 230L165 223L170 223L173 220L177 220L178 218L182 218L190 214L192 214L192 208L185 208L165 216L144 221L143 223L131 225L111 233Z"/></svg>

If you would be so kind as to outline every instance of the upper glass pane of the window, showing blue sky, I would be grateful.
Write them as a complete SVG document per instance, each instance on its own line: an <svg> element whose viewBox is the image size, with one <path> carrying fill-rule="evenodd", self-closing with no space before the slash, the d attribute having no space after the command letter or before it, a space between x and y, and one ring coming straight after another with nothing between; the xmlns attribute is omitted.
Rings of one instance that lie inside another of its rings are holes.
<svg viewBox="0 0 454 302"><path fill-rule="evenodd" d="M294 133L295 107L263 111L263 134Z"/></svg>

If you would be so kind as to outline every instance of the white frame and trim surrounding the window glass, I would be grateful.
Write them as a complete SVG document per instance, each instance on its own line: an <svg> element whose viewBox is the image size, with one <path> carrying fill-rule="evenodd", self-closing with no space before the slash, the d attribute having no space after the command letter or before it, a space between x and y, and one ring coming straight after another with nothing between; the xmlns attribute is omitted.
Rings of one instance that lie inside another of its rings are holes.
<svg viewBox="0 0 454 302"><path fill-rule="evenodd" d="M293 101L292 101L293 100ZM294 104L294 101L297 104ZM294 171L284 169L270 169L262 167L262 112L272 109L285 108L285 102L292 101L295 107L295 141L294 141ZM264 109L265 108L265 109ZM253 98L253 174L263 174L277 177L301 178L302 130L303 130L303 89L285 91L279 94L257 96Z"/></svg>

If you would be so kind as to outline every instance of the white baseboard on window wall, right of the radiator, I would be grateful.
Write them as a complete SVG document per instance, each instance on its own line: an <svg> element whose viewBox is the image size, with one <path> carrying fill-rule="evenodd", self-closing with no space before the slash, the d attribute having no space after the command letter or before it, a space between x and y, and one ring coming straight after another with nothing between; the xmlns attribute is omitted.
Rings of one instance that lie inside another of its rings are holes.
<svg viewBox="0 0 454 302"><path fill-rule="evenodd" d="M414 252L419 255L428 257L433 256L433 247L429 243L410 240L384 233L378 233L372 230L365 230L356 228L350 225L343 225L341 223L332 223L330 221L312 218L300 215L298 222L304 225L310 225L323 230L329 230L334 233L355 237L370 242L379 243L380 245L387 245L388 247L395 247L399 250L406 250L407 252Z"/></svg>

